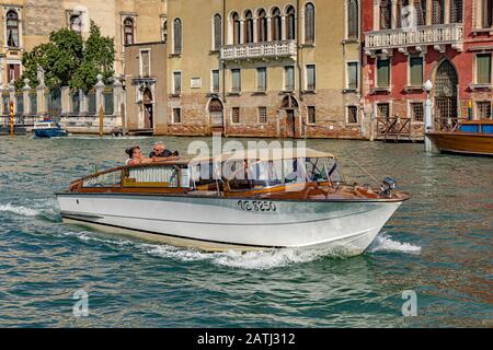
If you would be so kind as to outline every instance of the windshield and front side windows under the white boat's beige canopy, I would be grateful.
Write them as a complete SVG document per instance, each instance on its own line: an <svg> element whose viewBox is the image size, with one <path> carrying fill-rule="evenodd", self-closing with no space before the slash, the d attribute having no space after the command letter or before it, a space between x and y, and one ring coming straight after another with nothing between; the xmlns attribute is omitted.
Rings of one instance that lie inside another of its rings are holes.
<svg viewBox="0 0 493 350"><path fill-rule="evenodd" d="M306 182L344 182L337 162L332 158L236 161L225 164L222 171L231 190L252 190Z"/></svg>

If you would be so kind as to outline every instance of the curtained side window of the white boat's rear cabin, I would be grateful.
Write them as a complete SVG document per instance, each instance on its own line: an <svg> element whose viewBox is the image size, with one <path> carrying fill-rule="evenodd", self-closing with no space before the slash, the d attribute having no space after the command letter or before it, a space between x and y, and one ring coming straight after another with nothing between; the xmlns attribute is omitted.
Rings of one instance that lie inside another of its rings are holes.
<svg viewBox="0 0 493 350"><path fill-rule="evenodd" d="M181 178L180 178L181 176ZM183 184L183 185L181 185ZM190 187L190 175L186 167L175 165L130 167L124 171L124 187Z"/></svg>

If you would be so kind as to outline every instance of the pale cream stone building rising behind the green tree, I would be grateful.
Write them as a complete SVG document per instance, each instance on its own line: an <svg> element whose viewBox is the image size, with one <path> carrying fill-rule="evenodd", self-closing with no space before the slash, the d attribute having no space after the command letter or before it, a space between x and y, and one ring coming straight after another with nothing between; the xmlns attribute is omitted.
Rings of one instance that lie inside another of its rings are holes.
<svg viewBox="0 0 493 350"><path fill-rule="evenodd" d="M115 71L124 71L124 45L158 42L165 35L165 0L9 0L0 2L0 83L22 74L22 55L70 27L88 35L90 21L114 37Z"/></svg>

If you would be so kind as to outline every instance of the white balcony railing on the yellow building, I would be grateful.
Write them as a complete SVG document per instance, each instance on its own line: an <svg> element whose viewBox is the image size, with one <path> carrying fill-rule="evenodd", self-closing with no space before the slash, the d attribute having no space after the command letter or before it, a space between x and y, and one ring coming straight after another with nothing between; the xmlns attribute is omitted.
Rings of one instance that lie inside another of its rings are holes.
<svg viewBox="0 0 493 350"><path fill-rule="evenodd" d="M225 60L291 56L296 56L295 40L226 45L221 48L221 59Z"/></svg>

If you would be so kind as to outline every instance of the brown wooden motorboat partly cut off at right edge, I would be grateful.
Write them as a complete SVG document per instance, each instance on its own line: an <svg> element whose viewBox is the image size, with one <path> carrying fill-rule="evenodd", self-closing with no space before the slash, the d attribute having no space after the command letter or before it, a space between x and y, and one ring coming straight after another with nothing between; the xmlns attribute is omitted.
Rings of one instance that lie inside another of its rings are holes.
<svg viewBox="0 0 493 350"><path fill-rule="evenodd" d="M426 133L440 152L493 155L493 120L468 120L451 131Z"/></svg>

